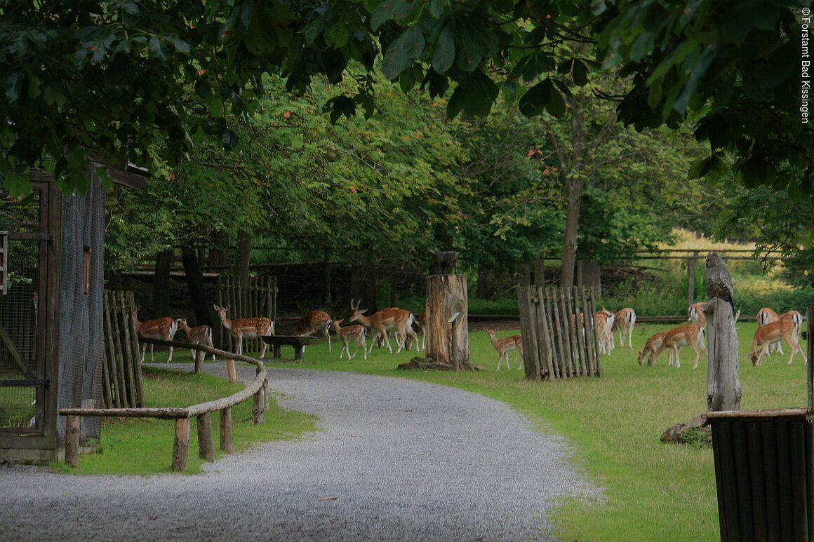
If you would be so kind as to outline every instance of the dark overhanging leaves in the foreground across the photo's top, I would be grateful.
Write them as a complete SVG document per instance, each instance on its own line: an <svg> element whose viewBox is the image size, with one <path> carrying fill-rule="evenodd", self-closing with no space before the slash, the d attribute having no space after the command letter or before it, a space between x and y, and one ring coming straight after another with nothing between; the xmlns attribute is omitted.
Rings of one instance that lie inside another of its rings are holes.
<svg viewBox="0 0 814 542"><path fill-rule="evenodd" d="M269 73L299 93L316 76L346 81L326 103L333 119L374 113L373 70L401 90L448 95L450 117L485 116L499 97L560 116L567 78L583 85L601 64L632 81L594 90L618 103L619 120L694 123L708 144L694 175L731 170L746 186L810 194L799 10L809 3L10 0L0 172L15 193L31 167L82 189L89 151L173 163L207 137L238 148L236 119L252 115Z"/></svg>

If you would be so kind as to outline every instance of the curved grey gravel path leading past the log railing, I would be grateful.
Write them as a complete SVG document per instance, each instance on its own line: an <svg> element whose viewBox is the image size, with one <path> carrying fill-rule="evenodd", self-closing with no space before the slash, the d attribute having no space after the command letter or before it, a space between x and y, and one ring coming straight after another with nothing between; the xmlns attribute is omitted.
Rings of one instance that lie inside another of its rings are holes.
<svg viewBox="0 0 814 542"><path fill-rule="evenodd" d="M239 367L239 378L253 376ZM283 407L317 414L322 431L225 457L194 476L0 468L2 538L556 540L552 507L601 495L563 461L563 439L531 431L497 400L303 369L269 368L269 382Z"/></svg>

